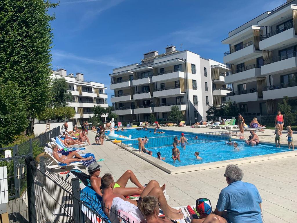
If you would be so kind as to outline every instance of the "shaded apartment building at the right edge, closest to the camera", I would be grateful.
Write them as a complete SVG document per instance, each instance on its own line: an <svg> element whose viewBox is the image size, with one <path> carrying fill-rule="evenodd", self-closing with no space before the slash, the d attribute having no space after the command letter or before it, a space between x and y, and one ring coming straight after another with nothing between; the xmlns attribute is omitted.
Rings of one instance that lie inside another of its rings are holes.
<svg viewBox="0 0 297 223"><path fill-rule="evenodd" d="M284 96L297 99L297 0L229 32L222 40L228 69L225 83L233 85L227 94L245 114L275 114Z"/></svg>

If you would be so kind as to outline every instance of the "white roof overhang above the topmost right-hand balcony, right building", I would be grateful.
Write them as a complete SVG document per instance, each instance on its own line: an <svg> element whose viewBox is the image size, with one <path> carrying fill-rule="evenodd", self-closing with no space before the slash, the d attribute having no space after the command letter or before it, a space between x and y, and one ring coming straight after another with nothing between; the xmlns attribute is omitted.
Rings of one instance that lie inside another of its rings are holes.
<svg viewBox="0 0 297 223"><path fill-rule="evenodd" d="M293 15L293 10L297 10L297 5L287 4L282 9L268 14L266 18L258 21L259 26L271 26L280 22L280 18L288 18Z"/></svg>

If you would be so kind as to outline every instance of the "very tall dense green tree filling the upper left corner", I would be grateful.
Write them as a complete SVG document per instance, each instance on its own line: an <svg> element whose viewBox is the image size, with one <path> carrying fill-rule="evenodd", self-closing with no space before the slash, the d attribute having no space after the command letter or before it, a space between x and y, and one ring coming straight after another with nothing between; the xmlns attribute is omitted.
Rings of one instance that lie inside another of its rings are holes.
<svg viewBox="0 0 297 223"><path fill-rule="evenodd" d="M54 16L48 10L57 5L49 0L0 1L0 85L18 84L19 101L26 101L31 128L50 100L53 34L49 22Z"/></svg>

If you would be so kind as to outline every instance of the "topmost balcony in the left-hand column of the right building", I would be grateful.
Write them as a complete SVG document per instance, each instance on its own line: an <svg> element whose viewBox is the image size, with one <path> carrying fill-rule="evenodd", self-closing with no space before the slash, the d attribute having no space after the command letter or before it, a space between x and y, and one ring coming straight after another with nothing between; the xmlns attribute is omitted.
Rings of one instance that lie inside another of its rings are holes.
<svg viewBox="0 0 297 223"><path fill-rule="evenodd" d="M244 60L244 58L251 58L260 56L262 51L255 50L255 45L253 41L250 41L244 45L232 49L231 51L224 53L224 63L236 63Z"/></svg>

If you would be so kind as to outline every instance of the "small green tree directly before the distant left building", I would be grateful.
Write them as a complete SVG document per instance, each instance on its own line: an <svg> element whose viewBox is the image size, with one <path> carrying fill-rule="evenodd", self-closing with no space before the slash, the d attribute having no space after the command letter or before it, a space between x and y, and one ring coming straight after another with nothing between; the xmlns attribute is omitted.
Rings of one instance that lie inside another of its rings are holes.
<svg viewBox="0 0 297 223"><path fill-rule="evenodd" d="M68 91L68 84L64 77L54 78L51 82L51 95L53 107L66 107L70 100L72 100L72 94Z"/></svg>

